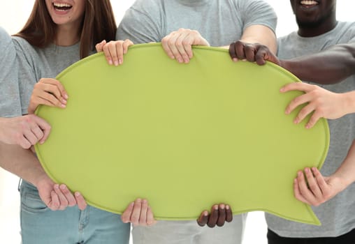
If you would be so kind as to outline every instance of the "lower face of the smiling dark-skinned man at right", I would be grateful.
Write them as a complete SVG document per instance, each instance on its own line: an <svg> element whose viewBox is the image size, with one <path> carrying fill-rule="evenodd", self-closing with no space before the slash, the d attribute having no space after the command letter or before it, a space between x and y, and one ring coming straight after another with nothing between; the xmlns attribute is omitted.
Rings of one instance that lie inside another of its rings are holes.
<svg viewBox="0 0 355 244"><path fill-rule="evenodd" d="M336 0L290 0L298 27L329 31L336 24Z"/></svg>

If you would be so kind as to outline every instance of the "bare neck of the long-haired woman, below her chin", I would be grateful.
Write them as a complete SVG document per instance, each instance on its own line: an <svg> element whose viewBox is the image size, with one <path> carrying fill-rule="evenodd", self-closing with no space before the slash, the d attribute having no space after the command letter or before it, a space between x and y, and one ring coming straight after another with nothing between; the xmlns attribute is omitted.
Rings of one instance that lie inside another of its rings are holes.
<svg viewBox="0 0 355 244"><path fill-rule="evenodd" d="M59 25L57 26L57 38L55 39L55 45L61 47L72 46L80 40L80 26L76 24L73 26Z"/></svg>

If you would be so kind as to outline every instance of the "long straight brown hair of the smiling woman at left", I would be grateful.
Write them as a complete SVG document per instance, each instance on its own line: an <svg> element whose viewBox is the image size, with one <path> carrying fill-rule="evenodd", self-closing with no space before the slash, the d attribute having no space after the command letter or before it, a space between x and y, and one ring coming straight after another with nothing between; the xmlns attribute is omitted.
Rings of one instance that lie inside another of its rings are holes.
<svg viewBox="0 0 355 244"><path fill-rule="evenodd" d="M116 22L110 0L85 0L80 33L80 58L85 58L101 40L115 40ZM55 41L57 25L48 13L45 0L36 0L29 20L20 36L36 47L47 47Z"/></svg>

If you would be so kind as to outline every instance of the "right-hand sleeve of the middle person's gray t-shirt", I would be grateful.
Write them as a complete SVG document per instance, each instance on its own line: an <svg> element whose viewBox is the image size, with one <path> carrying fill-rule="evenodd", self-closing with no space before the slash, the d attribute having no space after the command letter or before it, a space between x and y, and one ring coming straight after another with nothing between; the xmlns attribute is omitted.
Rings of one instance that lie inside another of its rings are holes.
<svg viewBox="0 0 355 244"><path fill-rule="evenodd" d="M249 26L260 24L268 26L275 33L277 15L270 4L260 0L239 1L238 3L240 13L242 13L243 31Z"/></svg>

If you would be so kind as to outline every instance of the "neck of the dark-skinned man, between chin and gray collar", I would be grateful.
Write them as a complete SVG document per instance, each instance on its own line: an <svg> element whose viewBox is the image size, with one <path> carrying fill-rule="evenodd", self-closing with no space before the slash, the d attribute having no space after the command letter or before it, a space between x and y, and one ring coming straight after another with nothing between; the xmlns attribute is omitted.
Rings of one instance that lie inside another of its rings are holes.
<svg viewBox="0 0 355 244"><path fill-rule="evenodd" d="M320 24L298 24L298 35L303 37L314 37L320 36L328 31L331 31L338 24L335 16L331 17L328 22L323 22Z"/></svg>

